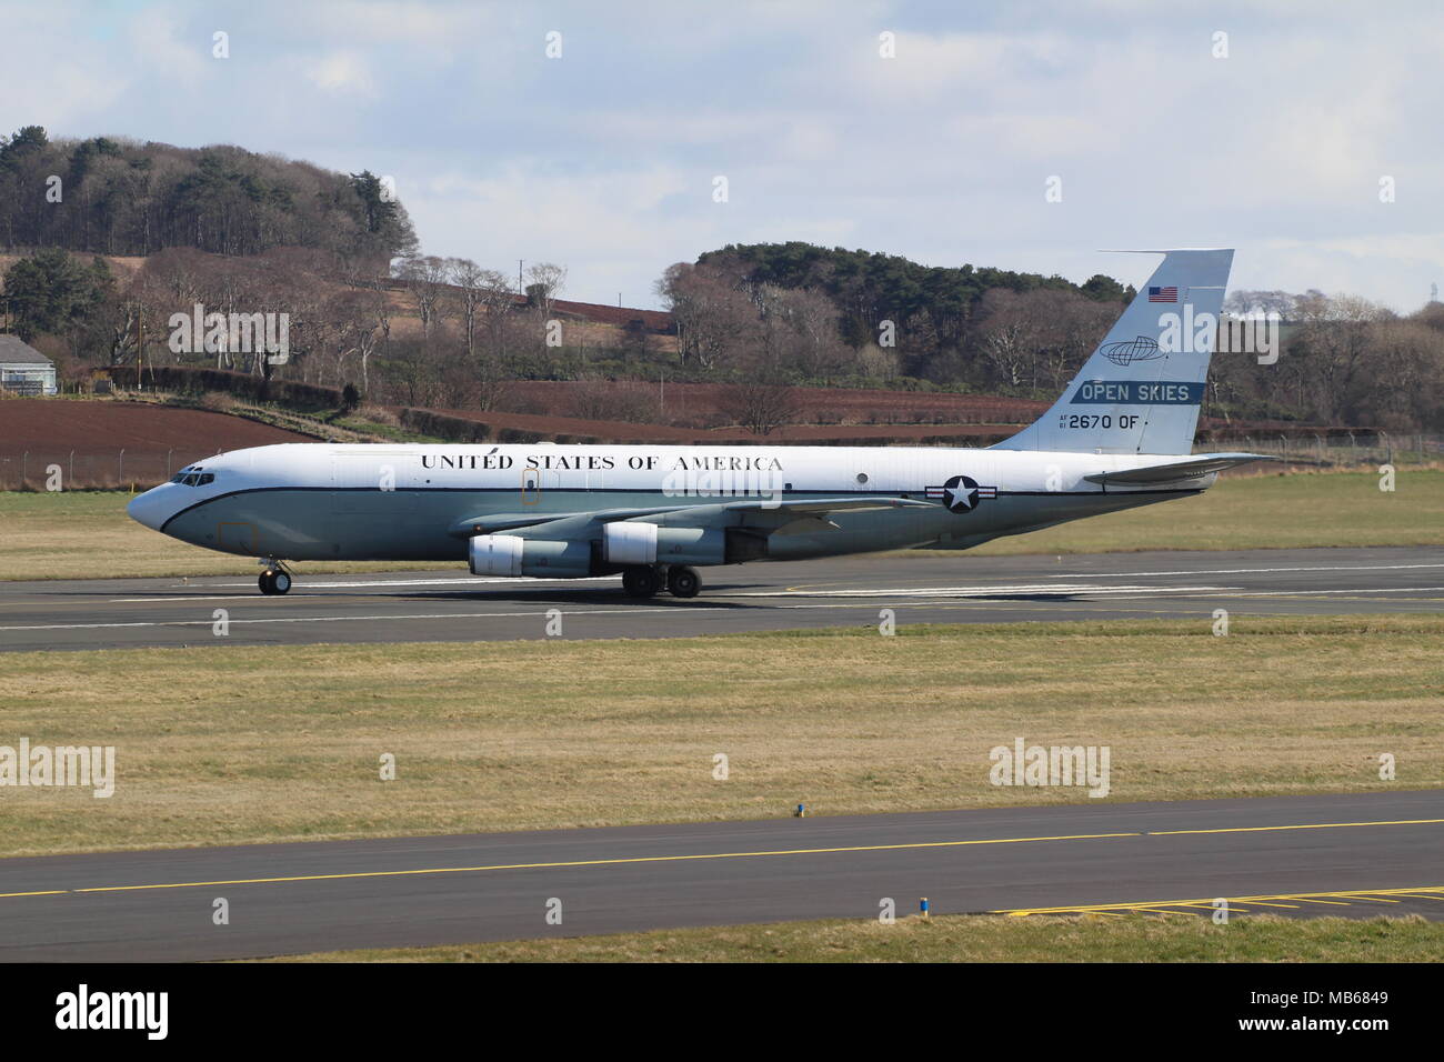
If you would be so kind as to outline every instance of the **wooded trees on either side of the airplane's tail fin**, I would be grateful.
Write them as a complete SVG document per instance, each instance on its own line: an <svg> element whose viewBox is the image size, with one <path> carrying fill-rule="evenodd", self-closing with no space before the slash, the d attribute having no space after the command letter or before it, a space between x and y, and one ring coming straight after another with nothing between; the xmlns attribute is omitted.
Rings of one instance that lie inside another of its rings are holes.
<svg viewBox="0 0 1444 1062"><path fill-rule="evenodd" d="M657 282L679 358L771 383L933 384L1051 400L1134 298L1097 275L921 266L806 243L729 246ZM1226 316L1275 314L1276 360L1214 355L1204 415L1444 429L1444 303L1399 315L1352 295L1236 292Z"/></svg>

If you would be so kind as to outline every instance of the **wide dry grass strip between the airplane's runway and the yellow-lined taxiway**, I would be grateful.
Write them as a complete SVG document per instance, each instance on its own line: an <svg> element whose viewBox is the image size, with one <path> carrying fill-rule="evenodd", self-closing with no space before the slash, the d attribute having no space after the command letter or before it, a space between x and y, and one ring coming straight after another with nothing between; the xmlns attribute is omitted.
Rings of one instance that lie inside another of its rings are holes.
<svg viewBox="0 0 1444 1062"><path fill-rule="evenodd" d="M0 854L1090 800L991 785L1015 737L1109 746L1110 800L1432 787L1441 639L1430 616L1200 616L13 653L0 744L114 744L118 780L7 789Z"/></svg>

